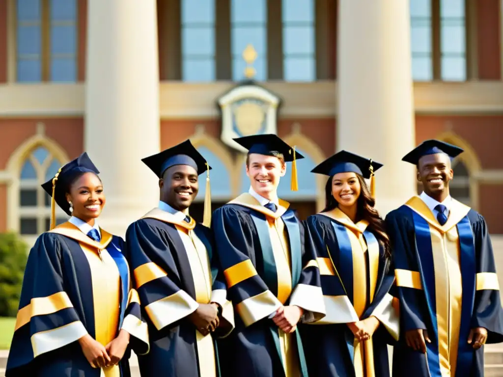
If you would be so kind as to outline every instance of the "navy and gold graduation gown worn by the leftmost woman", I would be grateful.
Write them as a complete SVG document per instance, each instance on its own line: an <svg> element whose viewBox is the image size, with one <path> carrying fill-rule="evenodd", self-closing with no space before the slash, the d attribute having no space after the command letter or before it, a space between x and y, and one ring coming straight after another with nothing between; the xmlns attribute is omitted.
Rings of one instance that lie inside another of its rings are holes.
<svg viewBox="0 0 503 377"><path fill-rule="evenodd" d="M6 376L129 377L130 348L148 352L124 241L101 234L96 242L67 222L38 237L25 269ZM130 345L119 365L93 368L77 340L88 333L106 346L120 329L129 332Z"/></svg>

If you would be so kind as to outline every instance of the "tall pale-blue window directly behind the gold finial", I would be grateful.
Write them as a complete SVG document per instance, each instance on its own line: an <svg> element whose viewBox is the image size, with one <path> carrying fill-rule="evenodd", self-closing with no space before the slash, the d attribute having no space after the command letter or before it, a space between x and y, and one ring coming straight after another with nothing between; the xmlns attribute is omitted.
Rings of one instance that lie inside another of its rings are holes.
<svg viewBox="0 0 503 377"><path fill-rule="evenodd" d="M267 80L267 1L231 0L230 3L232 79L244 78L246 63L242 53L248 44L254 46L258 57L253 66L255 79Z"/></svg>

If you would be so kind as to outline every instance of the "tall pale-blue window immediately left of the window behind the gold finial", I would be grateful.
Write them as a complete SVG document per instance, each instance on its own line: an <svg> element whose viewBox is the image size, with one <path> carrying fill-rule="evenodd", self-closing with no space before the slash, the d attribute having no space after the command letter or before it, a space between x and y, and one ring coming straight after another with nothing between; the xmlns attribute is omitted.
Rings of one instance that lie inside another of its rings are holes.
<svg viewBox="0 0 503 377"><path fill-rule="evenodd" d="M182 79L215 79L215 2L182 0Z"/></svg>

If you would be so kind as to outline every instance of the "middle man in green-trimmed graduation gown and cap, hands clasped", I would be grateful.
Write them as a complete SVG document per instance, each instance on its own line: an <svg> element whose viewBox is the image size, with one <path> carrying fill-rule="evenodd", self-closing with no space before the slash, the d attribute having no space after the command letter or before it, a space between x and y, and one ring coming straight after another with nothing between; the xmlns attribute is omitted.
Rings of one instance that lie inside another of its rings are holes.
<svg viewBox="0 0 503 377"><path fill-rule="evenodd" d="M234 139L248 149L248 193L213 214L216 249L236 312L220 354L225 375L307 376L297 323L324 315L310 237L289 203L278 199L285 161L303 158L276 135ZM296 189L296 187L293 187Z"/></svg>

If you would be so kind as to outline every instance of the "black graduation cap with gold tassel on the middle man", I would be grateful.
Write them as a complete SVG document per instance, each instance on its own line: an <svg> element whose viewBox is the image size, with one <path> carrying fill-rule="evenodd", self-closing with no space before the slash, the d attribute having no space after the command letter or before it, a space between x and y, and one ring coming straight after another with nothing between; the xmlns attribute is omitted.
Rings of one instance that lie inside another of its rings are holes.
<svg viewBox="0 0 503 377"><path fill-rule="evenodd" d="M248 150L248 153L263 154L266 156L274 156L276 153L281 153L285 162L292 162L292 185L291 190L298 190L297 183L297 161L304 158L303 155L295 151L295 147L291 147L277 135L251 135L233 139L236 143Z"/></svg>

